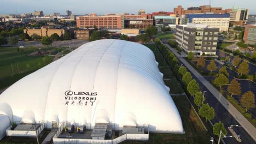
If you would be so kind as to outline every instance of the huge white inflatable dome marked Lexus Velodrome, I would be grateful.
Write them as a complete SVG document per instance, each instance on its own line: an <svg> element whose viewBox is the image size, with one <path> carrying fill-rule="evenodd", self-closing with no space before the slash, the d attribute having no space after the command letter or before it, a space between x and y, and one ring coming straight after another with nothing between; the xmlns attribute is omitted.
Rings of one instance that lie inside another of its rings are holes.
<svg viewBox="0 0 256 144"><path fill-rule="evenodd" d="M148 47L97 40L5 90L0 122L4 128L10 122L44 121L49 128L51 122L69 122L91 129L95 123L110 123L115 130L149 124L150 131L184 133L168 91Z"/></svg>

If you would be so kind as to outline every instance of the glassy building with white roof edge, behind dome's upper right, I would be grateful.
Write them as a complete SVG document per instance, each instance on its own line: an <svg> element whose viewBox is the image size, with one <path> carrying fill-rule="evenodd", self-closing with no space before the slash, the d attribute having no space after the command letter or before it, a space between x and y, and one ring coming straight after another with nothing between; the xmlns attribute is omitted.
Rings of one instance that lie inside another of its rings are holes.
<svg viewBox="0 0 256 144"><path fill-rule="evenodd" d="M154 26L158 29L168 25L176 25L176 17L172 16L154 16Z"/></svg>

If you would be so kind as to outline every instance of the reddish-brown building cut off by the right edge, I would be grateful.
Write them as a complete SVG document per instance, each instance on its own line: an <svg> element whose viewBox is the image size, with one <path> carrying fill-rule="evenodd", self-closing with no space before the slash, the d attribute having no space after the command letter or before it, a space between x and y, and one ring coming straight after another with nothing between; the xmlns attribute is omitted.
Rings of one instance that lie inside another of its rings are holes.
<svg viewBox="0 0 256 144"><path fill-rule="evenodd" d="M245 25L243 40L245 40L246 44L256 44L256 25Z"/></svg>

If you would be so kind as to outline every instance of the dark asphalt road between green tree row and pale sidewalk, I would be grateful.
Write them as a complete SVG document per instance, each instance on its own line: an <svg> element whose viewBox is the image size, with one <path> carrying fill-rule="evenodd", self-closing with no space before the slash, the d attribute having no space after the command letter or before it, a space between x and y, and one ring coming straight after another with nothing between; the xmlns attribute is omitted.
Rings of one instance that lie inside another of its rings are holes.
<svg viewBox="0 0 256 144"><path fill-rule="evenodd" d="M180 64L184 65L184 63L182 63L181 61L180 61ZM190 71L190 70L188 70L188 71ZM221 121L228 131L228 136L230 136L231 133L228 130L228 127L230 127L230 125L240 125L240 124L228 112L228 110L225 109L225 107L222 104L220 104L219 100L216 97L214 97L214 95L203 85L203 83L201 83L200 80L197 79L197 77L193 73L191 73L191 75L199 83L200 91L202 91L202 92L207 91L207 93L205 93L206 102L214 108L215 115L216 115L214 117L214 119L212 119L211 122L214 124L214 123L218 123L219 121ZM229 105L226 105L226 106L229 106ZM239 144L239 143L244 143L244 144L256 143L252 139L252 137L249 136L249 134L243 127L234 127L234 130L237 135L241 136L242 142L236 141L236 139L234 137L227 137L227 138L223 139L225 143L232 143L232 144L233 143L237 143L237 144Z"/></svg>

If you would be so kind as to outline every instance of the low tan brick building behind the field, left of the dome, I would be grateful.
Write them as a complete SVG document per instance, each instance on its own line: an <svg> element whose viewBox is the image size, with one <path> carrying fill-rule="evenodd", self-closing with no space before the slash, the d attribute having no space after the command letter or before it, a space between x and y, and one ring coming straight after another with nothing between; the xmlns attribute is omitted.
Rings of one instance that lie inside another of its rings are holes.
<svg viewBox="0 0 256 144"><path fill-rule="evenodd" d="M59 29L50 29L50 28L26 28L24 29L24 33L27 33L30 37L33 34L37 34L40 37L50 37L52 34L56 33L60 37L62 37L67 32L66 29L59 28Z"/></svg>

